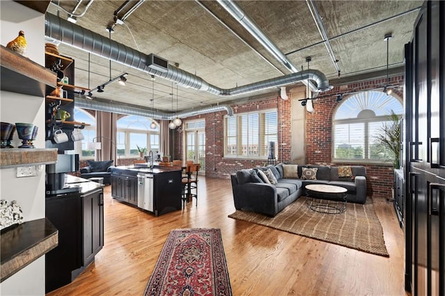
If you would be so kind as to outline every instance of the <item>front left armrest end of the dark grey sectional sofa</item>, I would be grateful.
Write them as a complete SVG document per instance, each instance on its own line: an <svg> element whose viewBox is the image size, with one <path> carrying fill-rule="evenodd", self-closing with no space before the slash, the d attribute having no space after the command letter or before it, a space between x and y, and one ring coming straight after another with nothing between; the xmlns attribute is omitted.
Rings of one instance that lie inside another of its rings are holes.
<svg viewBox="0 0 445 296"><path fill-rule="evenodd" d="M244 183L233 188L237 210L264 213L274 217L278 213L277 188L266 183Z"/></svg>

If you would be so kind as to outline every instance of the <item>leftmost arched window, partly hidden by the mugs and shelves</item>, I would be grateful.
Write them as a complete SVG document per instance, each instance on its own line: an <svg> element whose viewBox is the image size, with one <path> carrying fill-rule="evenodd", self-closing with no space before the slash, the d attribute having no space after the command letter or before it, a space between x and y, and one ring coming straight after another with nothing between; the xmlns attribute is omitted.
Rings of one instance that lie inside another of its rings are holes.
<svg viewBox="0 0 445 296"><path fill-rule="evenodd" d="M86 149L86 143L92 142L92 139L96 136L95 117L81 108L74 108L74 118L76 118L76 122L85 122L86 124L89 124L81 129L83 140L74 142L75 153L79 154L80 158L95 158L96 150Z"/></svg>

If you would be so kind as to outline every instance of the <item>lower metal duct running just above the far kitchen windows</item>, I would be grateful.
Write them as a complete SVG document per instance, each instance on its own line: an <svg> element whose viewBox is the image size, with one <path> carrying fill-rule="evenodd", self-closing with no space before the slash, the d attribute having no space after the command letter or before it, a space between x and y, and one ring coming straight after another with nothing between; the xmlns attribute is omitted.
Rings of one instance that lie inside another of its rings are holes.
<svg viewBox="0 0 445 296"><path fill-rule="evenodd" d="M113 102L110 104L109 101L102 101L100 99L90 100L83 97L76 97L74 101L74 106L78 108L86 108L90 110L106 111L111 113L119 113L125 115L139 115L144 117L154 118L156 120L173 120L176 117L186 118L195 115L213 113L218 111L227 111L227 115L234 115L234 110L229 105L219 105L219 106L209 106L196 110L185 110L179 113L165 113L154 110L149 110L146 108L141 108L140 106L131 106L127 104L122 104L118 102Z"/></svg>

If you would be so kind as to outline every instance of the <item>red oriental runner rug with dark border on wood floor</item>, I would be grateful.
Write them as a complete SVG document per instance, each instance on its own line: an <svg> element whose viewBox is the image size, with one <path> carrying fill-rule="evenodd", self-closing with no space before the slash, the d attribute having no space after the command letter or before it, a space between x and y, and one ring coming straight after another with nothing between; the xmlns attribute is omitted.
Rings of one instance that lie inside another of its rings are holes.
<svg viewBox="0 0 445 296"><path fill-rule="evenodd" d="M175 229L144 295L232 295L220 229Z"/></svg>

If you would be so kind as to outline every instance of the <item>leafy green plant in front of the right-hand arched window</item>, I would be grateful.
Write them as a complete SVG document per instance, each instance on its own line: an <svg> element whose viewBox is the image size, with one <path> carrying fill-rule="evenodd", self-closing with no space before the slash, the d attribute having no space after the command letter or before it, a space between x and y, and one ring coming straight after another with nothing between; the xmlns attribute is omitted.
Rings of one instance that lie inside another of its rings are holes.
<svg viewBox="0 0 445 296"><path fill-rule="evenodd" d="M391 115L389 115L389 123L383 124L380 128L381 133L375 138L380 145L391 151L391 158L387 161L391 161L395 169L400 168L401 161L401 120L391 110Z"/></svg>

